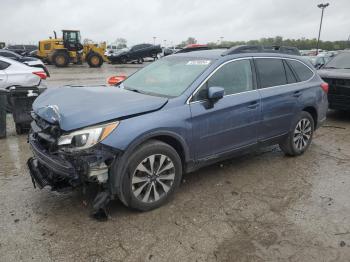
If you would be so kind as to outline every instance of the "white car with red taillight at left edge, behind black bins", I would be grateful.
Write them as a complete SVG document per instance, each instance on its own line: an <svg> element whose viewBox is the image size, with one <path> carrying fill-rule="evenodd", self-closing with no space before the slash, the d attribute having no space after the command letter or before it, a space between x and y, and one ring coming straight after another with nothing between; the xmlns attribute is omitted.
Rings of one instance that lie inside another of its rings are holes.
<svg viewBox="0 0 350 262"><path fill-rule="evenodd" d="M46 72L39 67L25 65L15 60L0 57L0 88L11 86L39 86L46 79Z"/></svg>

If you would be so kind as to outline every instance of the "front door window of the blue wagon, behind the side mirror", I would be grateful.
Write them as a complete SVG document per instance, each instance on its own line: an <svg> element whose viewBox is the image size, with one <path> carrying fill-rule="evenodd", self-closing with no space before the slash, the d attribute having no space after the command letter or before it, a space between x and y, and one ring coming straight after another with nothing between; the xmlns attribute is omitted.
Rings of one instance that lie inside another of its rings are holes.
<svg viewBox="0 0 350 262"><path fill-rule="evenodd" d="M250 60L233 61L222 66L201 87L193 101L206 100L208 88L212 86L223 87L225 95L253 90L253 73Z"/></svg>

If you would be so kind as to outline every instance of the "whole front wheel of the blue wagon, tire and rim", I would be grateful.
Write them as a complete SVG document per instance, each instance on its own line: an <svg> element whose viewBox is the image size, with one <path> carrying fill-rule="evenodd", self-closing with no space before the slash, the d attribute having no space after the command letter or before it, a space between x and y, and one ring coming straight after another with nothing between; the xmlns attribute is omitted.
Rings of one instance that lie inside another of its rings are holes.
<svg viewBox="0 0 350 262"><path fill-rule="evenodd" d="M181 176L182 164L176 150L152 140L131 155L119 193L127 206L148 211L169 200L179 186Z"/></svg>

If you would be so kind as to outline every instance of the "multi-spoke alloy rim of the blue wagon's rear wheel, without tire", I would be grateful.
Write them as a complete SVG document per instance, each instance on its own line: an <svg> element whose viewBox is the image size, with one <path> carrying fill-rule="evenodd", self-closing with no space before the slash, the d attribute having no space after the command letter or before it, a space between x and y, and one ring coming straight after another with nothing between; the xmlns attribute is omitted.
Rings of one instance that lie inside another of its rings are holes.
<svg viewBox="0 0 350 262"><path fill-rule="evenodd" d="M311 121L307 118L301 119L295 127L293 142L295 147L302 151L305 149L312 136Z"/></svg>

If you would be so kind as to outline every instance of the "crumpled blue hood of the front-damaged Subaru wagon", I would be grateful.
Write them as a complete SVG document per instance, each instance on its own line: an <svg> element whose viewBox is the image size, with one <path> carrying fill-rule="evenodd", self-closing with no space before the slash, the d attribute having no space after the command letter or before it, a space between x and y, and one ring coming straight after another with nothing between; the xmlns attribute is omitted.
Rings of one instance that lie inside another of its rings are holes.
<svg viewBox="0 0 350 262"><path fill-rule="evenodd" d="M156 111L168 99L118 87L65 86L51 88L33 103L34 112L65 131Z"/></svg>

